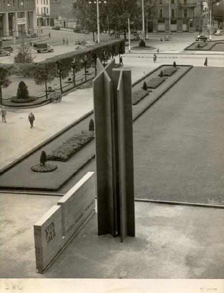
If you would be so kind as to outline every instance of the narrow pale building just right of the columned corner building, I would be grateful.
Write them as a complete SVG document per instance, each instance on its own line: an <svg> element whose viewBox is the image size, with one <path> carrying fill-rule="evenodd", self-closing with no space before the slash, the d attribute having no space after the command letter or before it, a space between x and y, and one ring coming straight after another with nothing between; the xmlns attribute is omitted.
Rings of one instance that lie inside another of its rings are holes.
<svg viewBox="0 0 224 293"><path fill-rule="evenodd" d="M37 25L50 25L50 0L37 1Z"/></svg>

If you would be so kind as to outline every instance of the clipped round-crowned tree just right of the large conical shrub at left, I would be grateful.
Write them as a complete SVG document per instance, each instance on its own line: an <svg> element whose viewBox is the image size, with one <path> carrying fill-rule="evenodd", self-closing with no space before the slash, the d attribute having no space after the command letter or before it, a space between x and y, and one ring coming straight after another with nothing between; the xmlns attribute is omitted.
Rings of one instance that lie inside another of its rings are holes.
<svg viewBox="0 0 224 293"><path fill-rule="evenodd" d="M32 70L32 78L35 81L35 84L41 85L45 84L45 93L46 99L47 95L47 83L51 82L56 77L56 64L55 62L42 62L34 66Z"/></svg>

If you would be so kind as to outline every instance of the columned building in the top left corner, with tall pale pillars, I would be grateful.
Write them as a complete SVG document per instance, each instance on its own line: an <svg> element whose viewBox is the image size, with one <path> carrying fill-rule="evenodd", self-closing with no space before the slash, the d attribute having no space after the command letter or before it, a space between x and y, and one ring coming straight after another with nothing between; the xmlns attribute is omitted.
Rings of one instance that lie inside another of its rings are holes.
<svg viewBox="0 0 224 293"><path fill-rule="evenodd" d="M36 31L35 0L0 0L0 37Z"/></svg>

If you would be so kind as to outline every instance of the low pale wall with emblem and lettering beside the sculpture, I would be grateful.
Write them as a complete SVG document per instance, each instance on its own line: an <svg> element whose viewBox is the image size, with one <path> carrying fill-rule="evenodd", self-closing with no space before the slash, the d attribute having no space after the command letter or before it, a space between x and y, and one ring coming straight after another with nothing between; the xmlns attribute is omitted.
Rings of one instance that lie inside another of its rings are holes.
<svg viewBox="0 0 224 293"><path fill-rule="evenodd" d="M37 272L44 272L67 241L95 213L94 173L88 172L34 225Z"/></svg>

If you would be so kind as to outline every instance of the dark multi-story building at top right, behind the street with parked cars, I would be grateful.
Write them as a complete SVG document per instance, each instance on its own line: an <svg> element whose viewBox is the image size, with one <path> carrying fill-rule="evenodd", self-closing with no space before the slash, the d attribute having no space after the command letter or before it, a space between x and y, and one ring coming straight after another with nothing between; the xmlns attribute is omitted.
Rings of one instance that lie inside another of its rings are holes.
<svg viewBox="0 0 224 293"><path fill-rule="evenodd" d="M159 16L158 19L154 22L154 32L194 31L194 10L197 6L197 0L158 1Z"/></svg>

